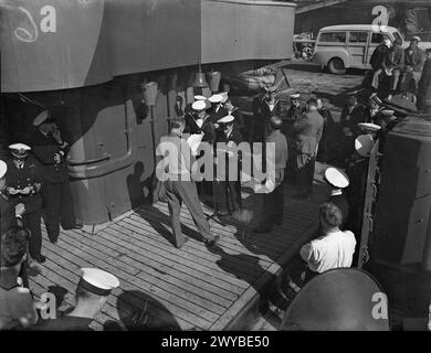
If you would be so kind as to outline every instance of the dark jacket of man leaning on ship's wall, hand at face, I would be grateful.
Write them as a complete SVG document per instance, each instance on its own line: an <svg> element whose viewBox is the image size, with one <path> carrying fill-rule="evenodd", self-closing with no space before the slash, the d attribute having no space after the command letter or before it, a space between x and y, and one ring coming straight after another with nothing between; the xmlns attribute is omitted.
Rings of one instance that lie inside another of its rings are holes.
<svg viewBox="0 0 431 353"><path fill-rule="evenodd" d="M32 150L42 164L43 180L50 183L59 184L69 179L67 165L65 163L65 158L69 153L69 148L61 149L59 143L50 135L44 136L42 132L38 131L32 143ZM55 164L54 156L55 153L61 156L61 163Z"/></svg>

